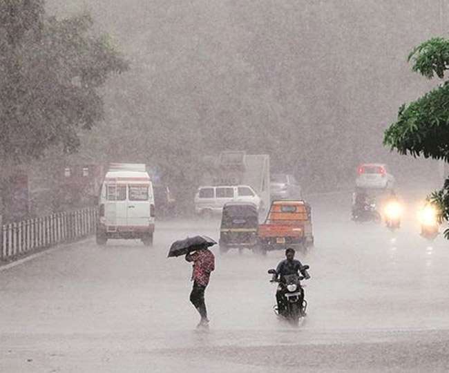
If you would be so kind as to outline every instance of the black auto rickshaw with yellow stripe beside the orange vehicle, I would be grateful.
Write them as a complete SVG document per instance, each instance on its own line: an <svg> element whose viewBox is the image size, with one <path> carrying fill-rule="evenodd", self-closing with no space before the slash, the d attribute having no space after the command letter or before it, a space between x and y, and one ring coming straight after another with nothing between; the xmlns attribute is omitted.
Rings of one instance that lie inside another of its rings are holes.
<svg viewBox="0 0 449 373"><path fill-rule="evenodd" d="M220 253L229 249L255 250L259 214L255 204L246 202L229 202L223 207L220 227Z"/></svg>

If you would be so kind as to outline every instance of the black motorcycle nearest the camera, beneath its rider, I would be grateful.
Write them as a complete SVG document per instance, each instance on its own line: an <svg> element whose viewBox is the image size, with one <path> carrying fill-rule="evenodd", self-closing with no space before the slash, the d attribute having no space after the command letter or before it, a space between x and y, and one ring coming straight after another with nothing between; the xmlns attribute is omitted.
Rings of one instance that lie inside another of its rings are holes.
<svg viewBox="0 0 449 373"><path fill-rule="evenodd" d="M308 265L302 268L305 276L292 274L283 276L283 280L276 278L270 281L278 283L278 291L281 291L283 294L283 309L278 309L277 306L274 306L274 312L278 317L283 318L292 325L298 325L300 319L306 315L307 300L304 299L304 289L300 281L310 278L307 269L309 269ZM269 269L268 274L276 274L276 269Z"/></svg>

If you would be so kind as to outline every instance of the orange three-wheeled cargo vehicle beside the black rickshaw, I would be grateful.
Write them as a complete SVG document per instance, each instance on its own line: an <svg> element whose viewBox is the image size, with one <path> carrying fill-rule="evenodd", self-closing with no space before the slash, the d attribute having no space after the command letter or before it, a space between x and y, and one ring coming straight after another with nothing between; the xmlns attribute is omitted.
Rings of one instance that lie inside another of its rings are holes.
<svg viewBox="0 0 449 373"><path fill-rule="evenodd" d="M267 220L259 225L260 252L293 247L307 249L314 245L312 209L303 200L274 201Z"/></svg>

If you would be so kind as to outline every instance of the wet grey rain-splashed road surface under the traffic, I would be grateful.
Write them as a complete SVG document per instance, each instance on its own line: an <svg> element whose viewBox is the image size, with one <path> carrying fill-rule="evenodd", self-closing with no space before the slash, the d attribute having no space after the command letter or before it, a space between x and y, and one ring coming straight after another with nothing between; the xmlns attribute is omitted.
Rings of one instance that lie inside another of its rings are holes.
<svg viewBox="0 0 449 373"><path fill-rule="evenodd" d="M316 248L308 316L276 320L267 269L283 258L220 256L207 289L209 332L189 304L191 267L172 240L218 221L160 222L155 247L93 240L0 272L1 372L304 372L449 370L449 249L354 224L347 196L312 200ZM337 212L341 211L341 212ZM414 214L411 214L414 217Z"/></svg>

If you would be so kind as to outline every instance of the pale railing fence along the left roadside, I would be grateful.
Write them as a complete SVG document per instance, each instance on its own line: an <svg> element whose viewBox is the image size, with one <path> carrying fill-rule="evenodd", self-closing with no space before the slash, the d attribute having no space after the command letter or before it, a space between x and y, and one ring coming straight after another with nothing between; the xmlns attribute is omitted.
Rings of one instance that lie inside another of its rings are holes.
<svg viewBox="0 0 449 373"><path fill-rule="evenodd" d="M95 233L97 209L53 213L50 216L5 224L1 227L0 260L14 260L63 242Z"/></svg>

